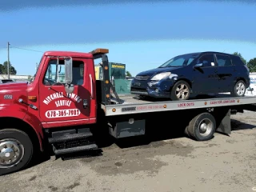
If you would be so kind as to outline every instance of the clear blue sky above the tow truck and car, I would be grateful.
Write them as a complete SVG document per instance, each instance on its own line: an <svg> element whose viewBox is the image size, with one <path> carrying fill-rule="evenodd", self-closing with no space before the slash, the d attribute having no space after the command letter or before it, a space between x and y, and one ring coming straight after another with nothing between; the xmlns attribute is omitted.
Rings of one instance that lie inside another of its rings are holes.
<svg viewBox="0 0 256 192"><path fill-rule="evenodd" d="M246 60L256 57L255 2L44 2L10 0L0 8L0 63L7 59L9 41L18 74L33 75L46 50L109 48L110 62L126 63L133 75L189 52L238 51Z"/></svg>

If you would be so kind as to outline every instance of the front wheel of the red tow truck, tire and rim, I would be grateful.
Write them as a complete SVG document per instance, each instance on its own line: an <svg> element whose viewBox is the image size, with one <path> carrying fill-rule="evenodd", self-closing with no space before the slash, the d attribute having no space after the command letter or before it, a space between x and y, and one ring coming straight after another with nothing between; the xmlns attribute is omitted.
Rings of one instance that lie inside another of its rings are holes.
<svg viewBox="0 0 256 192"><path fill-rule="evenodd" d="M30 137L22 130L0 130L0 175L24 169L33 150Z"/></svg>

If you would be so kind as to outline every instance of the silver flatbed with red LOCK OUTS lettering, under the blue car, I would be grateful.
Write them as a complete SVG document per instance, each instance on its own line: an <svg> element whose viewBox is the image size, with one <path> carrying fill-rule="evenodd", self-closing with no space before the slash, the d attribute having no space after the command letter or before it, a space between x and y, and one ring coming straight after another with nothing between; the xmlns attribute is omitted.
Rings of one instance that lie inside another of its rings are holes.
<svg viewBox="0 0 256 192"><path fill-rule="evenodd" d="M119 104L112 98L111 105L102 104L102 110L106 116L124 114L143 114L150 112L172 111L172 110L192 110L200 108L214 108L221 106L242 106L256 103L255 96L230 97L230 94L212 94L201 96L201 98L191 98L186 101L168 100L143 100L136 95L120 96Z"/></svg>

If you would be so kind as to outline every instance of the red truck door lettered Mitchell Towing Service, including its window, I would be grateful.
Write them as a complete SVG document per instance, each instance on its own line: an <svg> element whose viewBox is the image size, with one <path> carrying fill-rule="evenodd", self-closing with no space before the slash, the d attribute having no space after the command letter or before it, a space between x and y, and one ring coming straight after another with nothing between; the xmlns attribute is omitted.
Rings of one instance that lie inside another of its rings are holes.
<svg viewBox="0 0 256 192"><path fill-rule="evenodd" d="M72 58L74 91L65 91L65 66L62 58L47 58L47 68L39 82L40 117L49 126L79 125L90 122L90 83L86 58ZM88 102L88 106L85 103ZM75 122L75 123L74 123Z"/></svg>

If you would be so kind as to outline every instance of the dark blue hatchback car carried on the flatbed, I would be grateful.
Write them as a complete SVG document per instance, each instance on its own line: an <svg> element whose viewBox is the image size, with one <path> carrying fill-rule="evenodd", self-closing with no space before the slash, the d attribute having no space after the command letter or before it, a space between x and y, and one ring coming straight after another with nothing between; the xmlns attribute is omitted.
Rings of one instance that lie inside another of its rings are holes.
<svg viewBox="0 0 256 192"><path fill-rule="evenodd" d="M250 71L241 58L214 51L182 54L154 70L139 73L131 94L187 100L199 94L230 92L242 97L250 86Z"/></svg>

